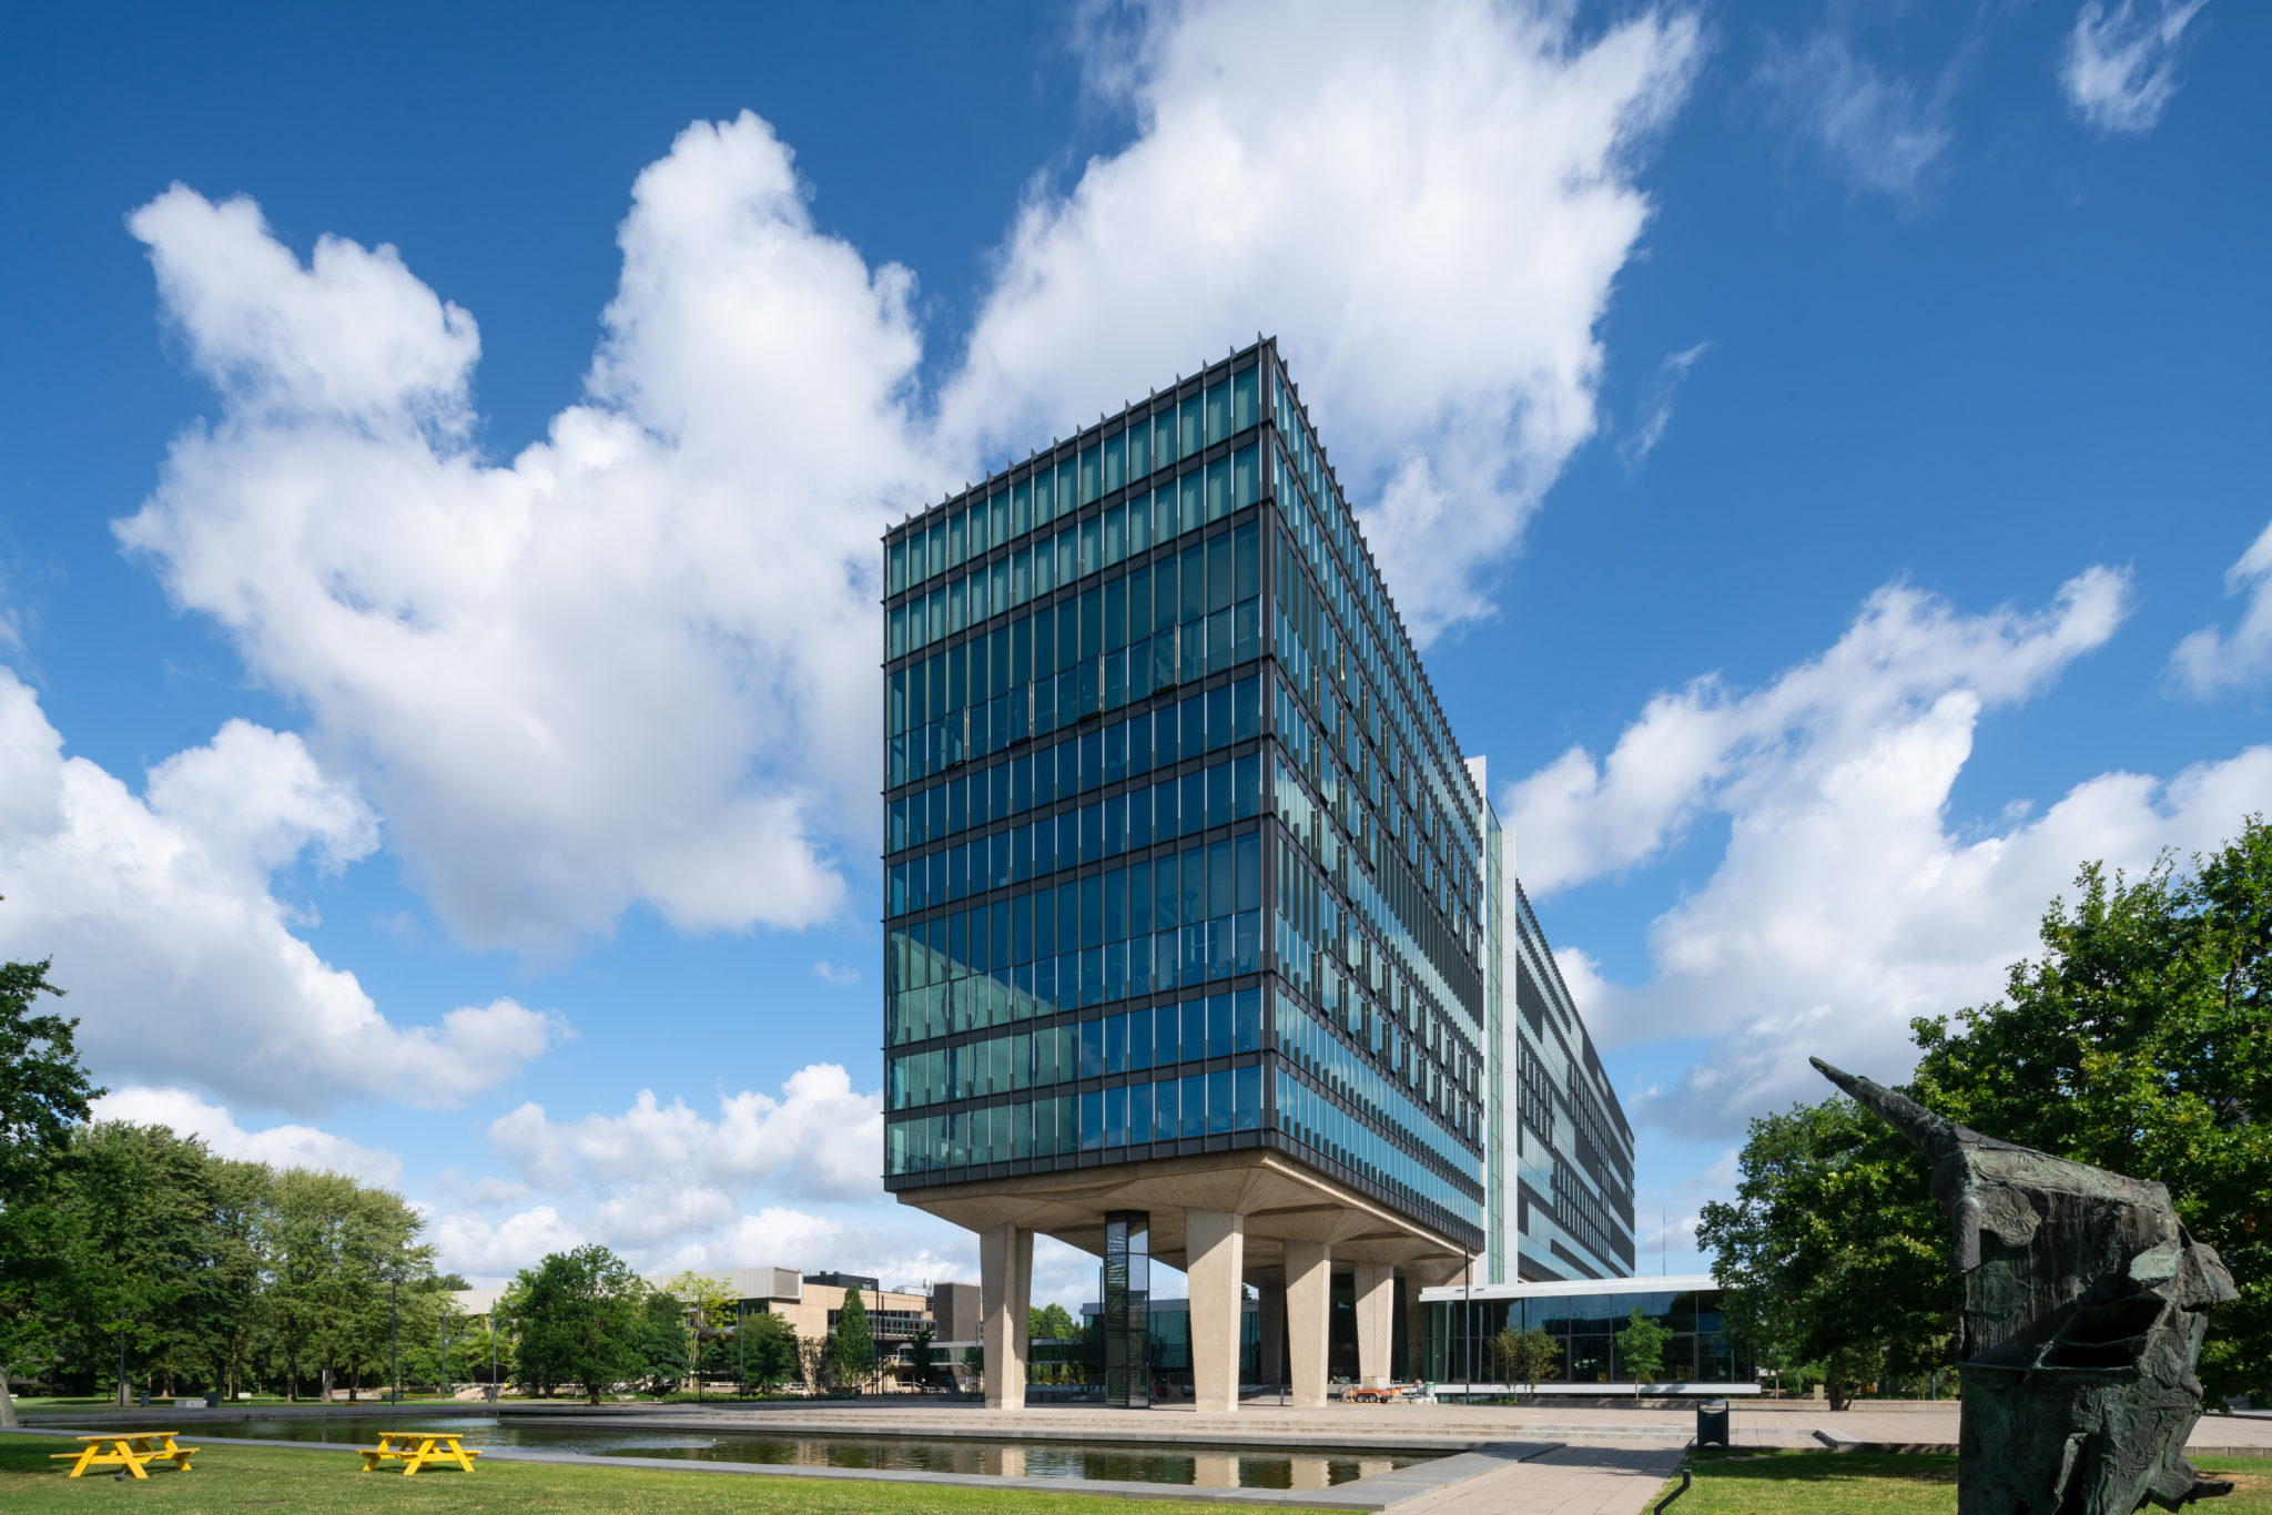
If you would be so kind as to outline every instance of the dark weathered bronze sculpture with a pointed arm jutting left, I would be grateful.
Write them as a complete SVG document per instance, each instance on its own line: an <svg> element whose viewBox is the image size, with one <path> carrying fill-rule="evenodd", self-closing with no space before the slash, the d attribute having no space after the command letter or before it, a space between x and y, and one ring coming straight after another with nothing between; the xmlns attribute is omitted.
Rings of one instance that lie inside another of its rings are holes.
<svg viewBox="0 0 2272 1515"><path fill-rule="evenodd" d="M2131 1515L2233 1492L2186 1458L2192 1370L2233 1279L2170 1190L1993 1140L1811 1061L1924 1152L1949 1206L1949 1265L1965 1277L1961 1515Z"/></svg>

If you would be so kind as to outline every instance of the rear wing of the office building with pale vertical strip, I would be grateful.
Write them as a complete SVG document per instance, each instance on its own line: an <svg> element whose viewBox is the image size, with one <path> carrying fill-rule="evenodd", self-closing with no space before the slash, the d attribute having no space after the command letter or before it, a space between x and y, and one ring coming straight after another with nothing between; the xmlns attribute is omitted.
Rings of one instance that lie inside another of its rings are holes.
<svg viewBox="0 0 2272 1515"><path fill-rule="evenodd" d="M1493 911L1486 1215L1490 1283L1634 1272L1634 1131L1513 872Z"/></svg>

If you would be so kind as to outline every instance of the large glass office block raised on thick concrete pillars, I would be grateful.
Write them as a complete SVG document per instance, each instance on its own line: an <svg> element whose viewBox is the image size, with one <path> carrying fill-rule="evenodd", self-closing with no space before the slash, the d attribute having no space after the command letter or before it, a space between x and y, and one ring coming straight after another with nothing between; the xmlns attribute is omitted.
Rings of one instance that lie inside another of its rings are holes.
<svg viewBox="0 0 2272 1515"><path fill-rule="evenodd" d="M884 554L884 1181L982 1233L988 1397L1036 1231L1118 1249L1109 1320L1188 1272L1202 1406L1243 1283L1297 1401L1336 1274L1386 1376L1486 1242L1497 854L1275 343Z"/></svg>

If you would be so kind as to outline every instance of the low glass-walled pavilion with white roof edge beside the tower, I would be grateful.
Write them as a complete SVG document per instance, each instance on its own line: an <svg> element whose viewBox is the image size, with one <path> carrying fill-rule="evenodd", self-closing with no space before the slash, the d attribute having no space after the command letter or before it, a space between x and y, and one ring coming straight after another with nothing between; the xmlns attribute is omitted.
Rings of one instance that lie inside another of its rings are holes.
<svg viewBox="0 0 2272 1515"><path fill-rule="evenodd" d="M1661 1392L1756 1395L1752 1363L1729 1340L1720 1320L1720 1286L1711 1274L1665 1279L1579 1279L1556 1283L1477 1283L1420 1292L1427 1358L1425 1379L1443 1386L1475 1383L1504 1392L1490 1340L1502 1331L1545 1331L1561 1347L1556 1370L1538 1381L1543 1395L1595 1392L1634 1383L1618 1361L1615 1333L1634 1311L1668 1331L1665 1372L1647 1383ZM1454 1390L1456 1392L1456 1390Z"/></svg>

